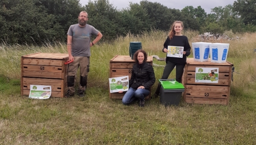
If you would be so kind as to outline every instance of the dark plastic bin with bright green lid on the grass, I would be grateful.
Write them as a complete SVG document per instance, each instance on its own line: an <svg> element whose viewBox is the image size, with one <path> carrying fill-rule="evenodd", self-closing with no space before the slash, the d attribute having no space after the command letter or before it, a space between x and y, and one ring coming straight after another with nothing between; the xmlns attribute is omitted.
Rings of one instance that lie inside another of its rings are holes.
<svg viewBox="0 0 256 145"><path fill-rule="evenodd" d="M175 79L159 79L160 87L160 103L165 106L178 105L182 93L185 91L183 84L175 81Z"/></svg>

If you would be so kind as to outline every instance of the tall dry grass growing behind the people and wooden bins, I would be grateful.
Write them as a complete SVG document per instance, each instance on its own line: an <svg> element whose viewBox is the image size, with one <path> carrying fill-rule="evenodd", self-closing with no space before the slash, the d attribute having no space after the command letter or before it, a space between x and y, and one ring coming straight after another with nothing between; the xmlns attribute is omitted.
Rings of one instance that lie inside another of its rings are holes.
<svg viewBox="0 0 256 145"><path fill-rule="evenodd" d="M227 39L208 39L202 40L198 37L199 33L191 30L183 32L189 38L190 44L192 42L211 42L211 43L229 43L229 51L227 61L234 64L235 71L233 73L233 87L247 86L253 84L254 61L256 57L256 33L244 33L235 35L232 32L227 34L238 36L238 40L229 41ZM160 58L166 57L166 54L161 52L163 43L166 40L168 32L151 31L144 32L141 35L128 34L125 37L119 37L113 43L102 43L91 47L92 56L90 57L90 73L89 85L96 84L97 86L107 87L109 78L109 61L115 55L129 55L129 43L132 41L142 42L142 47L148 52L148 55L158 55ZM50 52L50 53L67 53L67 46L63 43L45 44L44 46L28 46L28 45L7 45L0 46L0 74L8 78L20 78L20 58L22 55L27 55L35 52ZM193 57L191 54L189 57ZM165 65L164 61L157 61L154 59L154 64ZM156 77L161 78L163 67L154 67ZM248 79L248 76L251 76ZM169 76L175 78L175 71ZM250 86L249 86L250 87Z"/></svg>

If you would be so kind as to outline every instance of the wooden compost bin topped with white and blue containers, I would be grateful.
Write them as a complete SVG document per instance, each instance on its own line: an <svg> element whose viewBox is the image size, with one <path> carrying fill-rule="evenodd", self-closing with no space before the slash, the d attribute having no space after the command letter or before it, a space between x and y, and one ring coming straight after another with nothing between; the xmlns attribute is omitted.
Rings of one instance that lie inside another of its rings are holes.
<svg viewBox="0 0 256 145"><path fill-rule="evenodd" d="M218 68L218 83L195 82L196 67ZM230 99L231 72L233 64L199 62L193 58L187 58L185 70L182 76L182 84L185 87L183 98L187 103L195 104L223 104L227 105Z"/></svg>

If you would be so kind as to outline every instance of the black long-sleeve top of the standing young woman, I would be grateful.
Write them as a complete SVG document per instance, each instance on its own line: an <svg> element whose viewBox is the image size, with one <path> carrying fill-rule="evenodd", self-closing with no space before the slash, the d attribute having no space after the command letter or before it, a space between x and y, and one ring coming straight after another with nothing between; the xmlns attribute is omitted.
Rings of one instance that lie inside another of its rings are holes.
<svg viewBox="0 0 256 145"><path fill-rule="evenodd" d="M186 64L186 56L190 55L190 45L189 40L186 36L173 36L172 40L170 40L169 37L167 37L166 41L163 44L163 49L168 49L168 46L182 46L184 47L183 51L186 51L186 54L183 55L183 58L174 58L174 57L167 57L166 54L166 63L167 61L171 61L177 64Z"/></svg>

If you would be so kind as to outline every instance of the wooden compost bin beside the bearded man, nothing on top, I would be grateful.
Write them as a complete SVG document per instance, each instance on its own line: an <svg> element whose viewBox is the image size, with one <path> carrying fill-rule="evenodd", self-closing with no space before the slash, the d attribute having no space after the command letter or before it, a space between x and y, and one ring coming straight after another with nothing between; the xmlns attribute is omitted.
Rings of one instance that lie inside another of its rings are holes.
<svg viewBox="0 0 256 145"><path fill-rule="evenodd" d="M30 85L49 85L52 87L52 97L63 98L67 93L68 54L33 53L21 57L21 96L29 96Z"/></svg>

